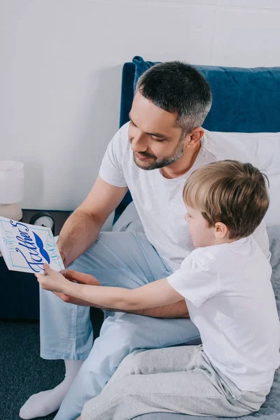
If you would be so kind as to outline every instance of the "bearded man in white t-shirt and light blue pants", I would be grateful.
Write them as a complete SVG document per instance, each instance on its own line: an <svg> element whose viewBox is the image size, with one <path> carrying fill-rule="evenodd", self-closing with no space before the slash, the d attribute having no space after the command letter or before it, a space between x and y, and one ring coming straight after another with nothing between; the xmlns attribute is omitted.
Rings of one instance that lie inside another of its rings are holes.
<svg viewBox="0 0 280 420"><path fill-rule="evenodd" d="M87 274L92 274L104 286L137 288L179 269L193 251L183 218L186 179L209 162L240 160L232 146L202 129L210 108L210 87L189 64L157 64L141 76L130 123L113 137L96 183L59 236L64 263L75 270L66 276L89 283ZM145 235L100 234L127 188ZM255 239L269 258L263 224ZM92 347L88 306L88 302L41 290L41 357L64 359L66 377L56 388L32 395L20 410L22 419L45 416L59 406L55 420L76 419L127 354L141 348L191 344L199 338L195 325L186 319L188 308L182 300L133 313L116 311L109 316L106 312L100 337Z"/></svg>

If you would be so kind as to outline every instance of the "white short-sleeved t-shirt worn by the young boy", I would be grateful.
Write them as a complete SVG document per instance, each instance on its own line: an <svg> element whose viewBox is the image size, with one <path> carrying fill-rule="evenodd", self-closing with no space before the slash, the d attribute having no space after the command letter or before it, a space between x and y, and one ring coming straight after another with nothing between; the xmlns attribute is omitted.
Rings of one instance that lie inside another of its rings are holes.
<svg viewBox="0 0 280 420"><path fill-rule="evenodd" d="M266 391L280 365L272 268L253 237L197 248L167 277L209 360L241 390Z"/></svg>

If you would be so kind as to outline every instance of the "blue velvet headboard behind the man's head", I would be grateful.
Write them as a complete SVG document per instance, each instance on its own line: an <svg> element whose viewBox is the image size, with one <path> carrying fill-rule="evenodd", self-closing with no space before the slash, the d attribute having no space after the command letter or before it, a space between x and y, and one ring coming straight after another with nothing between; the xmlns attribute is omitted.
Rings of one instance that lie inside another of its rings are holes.
<svg viewBox="0 0 280 420"><path fill-rule="evenodd" d="M120 127L129 120L139 76L153 64L141 57L124 64ZM204 128L220 132L280 132L280 67L196 67L209 81L213 94L213 105ZM127 193L116 209L116 218L131 200Z"/></svg>

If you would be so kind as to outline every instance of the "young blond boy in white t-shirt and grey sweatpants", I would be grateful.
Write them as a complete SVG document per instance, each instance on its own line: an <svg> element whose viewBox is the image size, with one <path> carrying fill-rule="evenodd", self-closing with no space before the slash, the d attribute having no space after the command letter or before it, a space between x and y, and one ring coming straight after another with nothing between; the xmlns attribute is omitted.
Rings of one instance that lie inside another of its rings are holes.
<svg viewBox="0 0 280 420"><path fill-rule="evenodd" d="M272 269L250 236L269 204L265 177L249 163L214 162L190 175L183 200L196 249L167 279L129 290L72 283L48 266L36 275L42 288L124 311L184 297L200 330L200 346L127 356L85 403L82 420L149 412L243 416L265 402L280 364Z"/></svg>

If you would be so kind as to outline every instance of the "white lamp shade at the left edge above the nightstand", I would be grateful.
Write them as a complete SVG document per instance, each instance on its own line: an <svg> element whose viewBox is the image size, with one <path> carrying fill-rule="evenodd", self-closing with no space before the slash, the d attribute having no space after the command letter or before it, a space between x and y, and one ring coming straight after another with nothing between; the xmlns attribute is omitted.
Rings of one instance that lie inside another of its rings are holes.
<svg viewBox="0 0 280 420"><path fill-rule="evenodd" d="M23 200L25 170L22 162L0 161L0 204Z"/></svg>

